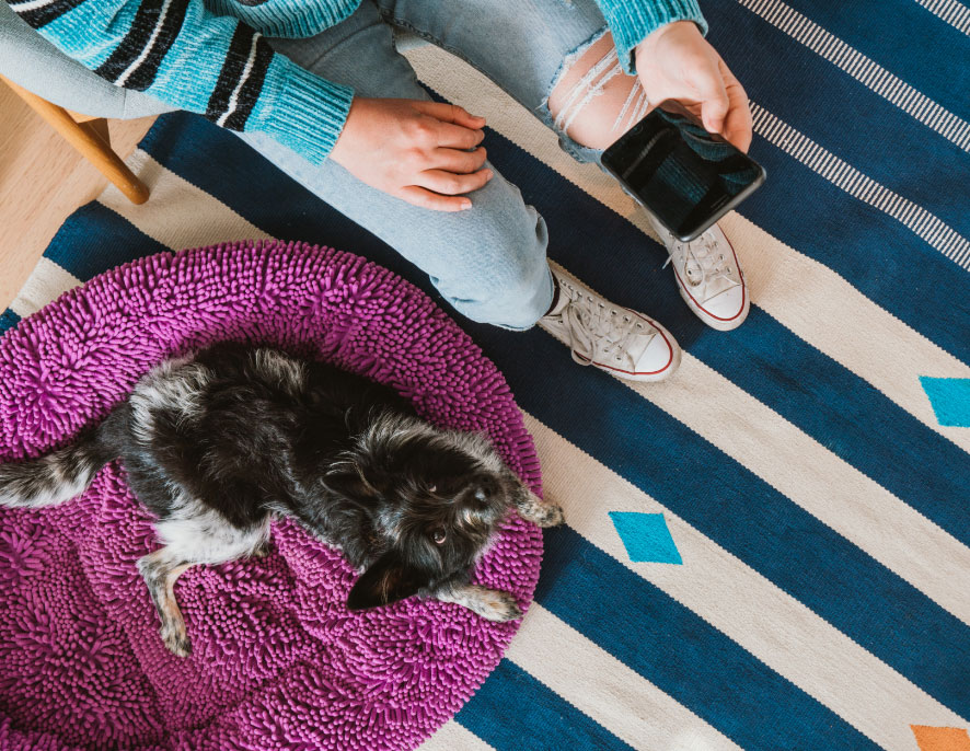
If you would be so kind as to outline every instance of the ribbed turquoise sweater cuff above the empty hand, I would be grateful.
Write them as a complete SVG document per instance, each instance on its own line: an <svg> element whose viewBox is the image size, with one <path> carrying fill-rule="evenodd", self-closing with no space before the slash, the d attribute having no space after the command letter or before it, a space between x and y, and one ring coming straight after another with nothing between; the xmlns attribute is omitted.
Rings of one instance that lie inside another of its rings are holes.
<svg viewBox="0 0 970 751"><path fill-rule="evenodd" d="M274 57L276 70L269 73L278 85L272 89L279 93L267 102L262 116L254 118L252 129L265 132L308 162L321 164L344 129L354 90L322 79L282 55Z"/></svg>

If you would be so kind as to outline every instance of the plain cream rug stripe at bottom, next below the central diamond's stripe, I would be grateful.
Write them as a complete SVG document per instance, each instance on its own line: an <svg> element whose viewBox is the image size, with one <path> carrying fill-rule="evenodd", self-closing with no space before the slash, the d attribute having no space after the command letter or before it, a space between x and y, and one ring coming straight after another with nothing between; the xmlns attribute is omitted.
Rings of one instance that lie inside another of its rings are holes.
<svg viewBox="0 0 970 751"><path fill-rule="evenodd" d="M739 749L538 602L529 605L506 657L635 749Z"/></svg>

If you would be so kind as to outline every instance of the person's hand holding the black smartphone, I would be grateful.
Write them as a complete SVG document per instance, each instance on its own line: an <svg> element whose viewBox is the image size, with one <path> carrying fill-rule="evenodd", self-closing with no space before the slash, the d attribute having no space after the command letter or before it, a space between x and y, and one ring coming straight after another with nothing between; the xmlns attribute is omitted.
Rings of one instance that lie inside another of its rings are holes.
<svg viewBox="0 0 970 751"><path fill-rule="evenodd" d="M636 72L647 100L673 100L741 151L751 146L744 89L693 21L661 26L636 48Z"/></svg>

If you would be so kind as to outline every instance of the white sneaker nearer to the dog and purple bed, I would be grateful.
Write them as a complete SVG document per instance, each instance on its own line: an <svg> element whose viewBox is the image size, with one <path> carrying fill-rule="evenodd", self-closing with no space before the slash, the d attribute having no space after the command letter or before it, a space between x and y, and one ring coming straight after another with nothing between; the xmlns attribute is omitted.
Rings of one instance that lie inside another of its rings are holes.
<svg viewBox="0 0 970 751"><path fill-rule="evenodd" d="M579 365L628 381L662 381L677 370L680 347L663 326L612 304L558 268L553 275L559 299L539 325L565 343Z"/></svg>

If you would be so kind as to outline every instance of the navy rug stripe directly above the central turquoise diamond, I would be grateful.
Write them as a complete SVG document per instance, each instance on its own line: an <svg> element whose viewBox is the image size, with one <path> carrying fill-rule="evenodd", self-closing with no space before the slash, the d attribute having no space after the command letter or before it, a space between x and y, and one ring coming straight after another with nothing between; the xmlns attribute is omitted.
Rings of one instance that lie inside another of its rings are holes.
<svg viewBox="0 0 970 751"><path fill-rule="evenodd" d="M968 716L966 624L625 385L576 367L554 388L536 377L566 357L545 334L470 330L523 409Z"/></svg>

